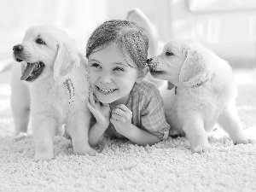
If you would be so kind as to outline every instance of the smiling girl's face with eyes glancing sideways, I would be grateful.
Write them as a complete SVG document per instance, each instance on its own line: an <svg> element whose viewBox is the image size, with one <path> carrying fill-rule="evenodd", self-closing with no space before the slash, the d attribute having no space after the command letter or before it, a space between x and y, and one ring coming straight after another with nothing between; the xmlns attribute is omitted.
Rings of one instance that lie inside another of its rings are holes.
<svg viewBox="0 0 256 192"><path fill-rule="evenodd" d="M90 84L102 103L126 104L138 78L138 67L129 55L126 61L116 44L89 56ZM129 63L129 65L127 64Z"/></svg>

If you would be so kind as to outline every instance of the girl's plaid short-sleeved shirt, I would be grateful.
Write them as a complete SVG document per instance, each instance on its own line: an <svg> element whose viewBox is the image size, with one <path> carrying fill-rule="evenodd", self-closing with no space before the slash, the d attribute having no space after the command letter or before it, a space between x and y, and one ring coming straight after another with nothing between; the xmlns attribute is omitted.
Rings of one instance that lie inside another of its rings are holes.
<svg viewBox="0 0 256 192"><path fill-rule="evenodd" d="M151 132L162 140L168 137L170 125L166 122L163 100L155 84L147 79L140 84L134 84L126 107L132 112L132 125ZM125 138L115 131L111 123L105 135Z"/></svg>

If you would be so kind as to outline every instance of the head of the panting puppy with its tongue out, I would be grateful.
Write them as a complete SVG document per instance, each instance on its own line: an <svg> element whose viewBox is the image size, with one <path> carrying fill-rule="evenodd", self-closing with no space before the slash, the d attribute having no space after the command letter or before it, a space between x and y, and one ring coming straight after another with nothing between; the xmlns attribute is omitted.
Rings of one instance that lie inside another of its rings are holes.
<svg viewBox="0 0 256 192"><path fill-rule="evenodd" d="M72 40L55 26L34 26L21 44L13 48L21 62L21 80L34 81L49 76L57 79L78 67L79 56Z"/></svg>

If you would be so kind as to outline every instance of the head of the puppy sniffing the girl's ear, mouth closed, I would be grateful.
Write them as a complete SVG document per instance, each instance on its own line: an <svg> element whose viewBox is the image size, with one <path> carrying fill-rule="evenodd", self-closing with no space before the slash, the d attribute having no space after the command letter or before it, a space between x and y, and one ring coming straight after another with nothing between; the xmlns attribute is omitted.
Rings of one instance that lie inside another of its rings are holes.
<svg viewBox="0 0 256 192"><path fill-rule="evenodd" d="M200 44L189 40L172 40L163 52L148 63L156 79L164 79L176 86L200 84L210 75L208 53Z"/></svg>

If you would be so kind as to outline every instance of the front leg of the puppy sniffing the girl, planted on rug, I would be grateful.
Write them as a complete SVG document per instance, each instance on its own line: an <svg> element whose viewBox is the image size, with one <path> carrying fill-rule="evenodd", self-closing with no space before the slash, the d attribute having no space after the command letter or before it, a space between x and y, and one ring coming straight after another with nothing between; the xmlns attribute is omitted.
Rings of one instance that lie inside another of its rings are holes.
<svg viewBox="0 0 256 192"><path fill-rule="evenodd" d="M209 150L207 132L204 129L204 121L199 114L183 114L183 131L189 139L193 153L204 153Z"/></svg>

